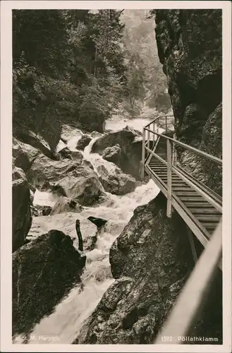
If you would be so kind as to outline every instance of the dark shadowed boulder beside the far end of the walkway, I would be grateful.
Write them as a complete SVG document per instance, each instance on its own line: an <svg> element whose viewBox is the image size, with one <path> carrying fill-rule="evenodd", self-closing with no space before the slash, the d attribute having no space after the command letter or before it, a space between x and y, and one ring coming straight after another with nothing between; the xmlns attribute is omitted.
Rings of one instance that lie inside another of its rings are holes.
<svg viewBox="0 0 232 353"><path fill-rule="evenodd" d="M106 133L94 142L92 152L103 155L111 162L114 160L114 163L123 172L140 179L140 160L142 158L142 134L140 131L126 126L121 131Z"/></svg>

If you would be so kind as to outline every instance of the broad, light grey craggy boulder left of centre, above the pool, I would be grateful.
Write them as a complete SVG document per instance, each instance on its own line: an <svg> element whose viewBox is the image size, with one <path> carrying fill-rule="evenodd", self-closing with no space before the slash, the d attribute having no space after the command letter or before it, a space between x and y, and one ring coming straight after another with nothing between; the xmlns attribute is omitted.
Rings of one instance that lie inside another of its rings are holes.
<svg viewBox="0 0 232 353"><path fill-rule="evenodd" d="M59 161L39 154L28 171L28 179L39 190L62 189L60 196L73 198L80 205L92 205L104 191L80 152L75 159Z"/></svg>

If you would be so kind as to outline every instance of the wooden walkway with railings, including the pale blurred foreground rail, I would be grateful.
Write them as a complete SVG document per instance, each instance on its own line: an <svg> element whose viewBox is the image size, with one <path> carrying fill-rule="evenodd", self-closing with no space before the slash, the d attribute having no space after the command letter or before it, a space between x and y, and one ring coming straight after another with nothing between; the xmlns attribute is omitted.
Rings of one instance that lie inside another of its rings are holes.
<svg viewBox="0 0 232 353"><path fill-rule="evenodd" d="M142 179L145 172L167 198L166 215L172 210L183 218L188 230L195 268L190 274L171 315L154 344L181 344L200 317L213 290L217 268L222 270L222 198L180 167L176 145L222 167L222 160L176 140L173 116L159 116L143 128ZM204 246L197 258L194 237ZM164 337L173 337L166 340Z"/></svg>

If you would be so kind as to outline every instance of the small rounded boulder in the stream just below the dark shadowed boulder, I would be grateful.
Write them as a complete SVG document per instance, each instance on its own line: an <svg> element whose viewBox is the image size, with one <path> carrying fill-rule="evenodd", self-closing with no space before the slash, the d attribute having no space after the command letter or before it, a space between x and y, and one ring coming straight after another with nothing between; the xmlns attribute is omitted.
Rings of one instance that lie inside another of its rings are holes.
<svg viewBox="0 0 232 353"><path fill-rule="evenodd" d="M104 165L97 167L97 172L100 174L99 181L105 191L113 193L114 195L125 195L135 190L137 182L135 178L129 174L121 173L119 169L118 174L109 174Z"/></svg>

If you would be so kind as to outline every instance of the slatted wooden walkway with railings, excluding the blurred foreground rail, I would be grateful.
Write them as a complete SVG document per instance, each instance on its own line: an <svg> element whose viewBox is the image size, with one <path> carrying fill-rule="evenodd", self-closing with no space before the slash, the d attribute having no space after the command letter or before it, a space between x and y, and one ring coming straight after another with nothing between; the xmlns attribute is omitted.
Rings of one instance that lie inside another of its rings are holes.
<svg viewBox="0 0 232 353"><path fill-rule="evenodd" d="M142 178L146 172L166 196L167 216L171 217L174 208L185 221L190 234L194 234L206 247L221 220L222 198L178 167L175 146L181 145L182 148L214 161L221 167L222 161L176 140L172 124L173 119L170 122L169 116L159 116L145 126ZM194 241L191 246L194 253ZM219 267L221 268L221 263Z"/></svg>

